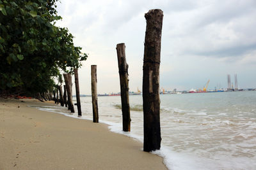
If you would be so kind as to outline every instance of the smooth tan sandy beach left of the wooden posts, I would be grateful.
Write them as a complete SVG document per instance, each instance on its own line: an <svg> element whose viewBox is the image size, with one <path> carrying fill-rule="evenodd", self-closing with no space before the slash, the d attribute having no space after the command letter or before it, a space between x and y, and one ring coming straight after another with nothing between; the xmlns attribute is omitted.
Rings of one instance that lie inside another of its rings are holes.
<svg viewBox="0 0 256 170"><path fill-rule="evenodd" d="M161 157L106 124L28 107L46 104L52 103L0 98L1 170L166 169Z"/></svg>

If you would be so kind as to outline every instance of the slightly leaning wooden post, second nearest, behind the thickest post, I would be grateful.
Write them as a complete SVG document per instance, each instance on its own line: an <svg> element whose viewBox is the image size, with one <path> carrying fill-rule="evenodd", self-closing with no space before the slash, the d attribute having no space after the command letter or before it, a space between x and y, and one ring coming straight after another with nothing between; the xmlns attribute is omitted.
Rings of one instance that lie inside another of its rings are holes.
<svg viewBox="0 0 256 170"><path fill-rule="evenodd" d="M122 101L122 115L123 115L123 131L131 131L131 116L129 104L129 78L128 78L128 64L125 59L125 44L120 43L116 45L116 53L118 59L118 69L120 77L121 101Z"/></svg>

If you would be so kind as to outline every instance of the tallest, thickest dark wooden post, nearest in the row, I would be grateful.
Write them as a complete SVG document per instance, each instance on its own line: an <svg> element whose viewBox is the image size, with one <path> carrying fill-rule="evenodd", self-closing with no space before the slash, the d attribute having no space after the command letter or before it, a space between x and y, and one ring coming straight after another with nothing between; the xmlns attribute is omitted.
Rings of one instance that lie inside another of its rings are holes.
<svg viewBox="0 0 256 170"><path fill-rule="evenodd" d="M143 62L143 115L145 152L161 147L159 67L163 11L150 10L145 13L147 29Z"/></svg>

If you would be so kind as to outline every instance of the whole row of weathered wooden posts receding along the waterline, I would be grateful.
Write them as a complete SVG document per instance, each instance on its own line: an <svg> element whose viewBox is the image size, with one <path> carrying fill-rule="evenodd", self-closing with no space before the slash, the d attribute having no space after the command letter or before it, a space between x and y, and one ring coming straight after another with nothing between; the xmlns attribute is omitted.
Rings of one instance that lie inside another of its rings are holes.
<svg viewBox="0 0 256 170"><path fill-rule="evenodd" d="M144 143L143 150L150 152L159 150L161 147L161 129L160 129L160 99L159 99L159 66L161 53L161 32L163 25L163 11L150 10L145 13L147 28L145 33L144 59L143 59L143 127ZM128 64L125 57L125 44L116 45L118 57L118 69L120 76L120 91L122 101L123 131L131 131L131 115L129 106L129 74ZM74 70L76 83L76 98L78 115L81 116L81 103L79 95L79 82L77 69ZM72 103L72 78L70 74L63 74L65 79L64 94L59 86L56 96L58 100L58 91L60 94L61 106L68 105L68 110L74 113ZM92 77L92 106L93 122L99 122L99 112L97 103L97 66L91 66ZM68 101L67 101L68 97ZM55 99L55 92L54 92Z"/></svg>

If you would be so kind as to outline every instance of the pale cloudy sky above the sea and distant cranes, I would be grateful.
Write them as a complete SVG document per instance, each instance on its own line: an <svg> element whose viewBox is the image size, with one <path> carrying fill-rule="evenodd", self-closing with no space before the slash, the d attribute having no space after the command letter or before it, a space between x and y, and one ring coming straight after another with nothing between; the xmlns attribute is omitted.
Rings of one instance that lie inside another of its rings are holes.
<svg viewBox="0 0 256 170"><path fill-rule="evenodd" d="M142 90L145 13L164 12L160 87L165 90L256 87L255 0L61 0L57 25L88 53L79 70L81 94L90 94L90 66L97 65L98 92L119 92L116 44L125 43L129 87ZM73 90L74 91L74 90Z"/></svg>

